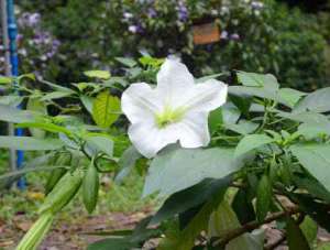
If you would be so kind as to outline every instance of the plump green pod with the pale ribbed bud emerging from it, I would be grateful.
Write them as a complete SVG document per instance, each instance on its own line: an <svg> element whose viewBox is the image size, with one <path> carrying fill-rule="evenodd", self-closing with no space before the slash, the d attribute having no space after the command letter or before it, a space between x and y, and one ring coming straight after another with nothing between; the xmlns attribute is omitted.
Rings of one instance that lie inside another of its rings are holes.
<svg viewBox="0 0 330 250"><path fill-rule="evenodd" d="M80 188L82 175L80 171L74 173L67 172L46 196L44 204L38 213L51 210L54 214L65 207L76 195Z"/></svg>

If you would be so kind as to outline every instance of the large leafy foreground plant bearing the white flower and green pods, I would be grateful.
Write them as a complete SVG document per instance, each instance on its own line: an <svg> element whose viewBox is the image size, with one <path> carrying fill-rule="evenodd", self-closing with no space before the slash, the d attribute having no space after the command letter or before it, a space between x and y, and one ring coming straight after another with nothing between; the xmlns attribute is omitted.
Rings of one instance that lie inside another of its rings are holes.
<svg viewBox="0 0 330 250"><path fill-rule="evenodd" d="M0 137L0 148L37 152L0 181L50 172L18 250L37 249L77 194L92 213L100 175L120 183L138 165L147 169L143 196L165 202L132 230L96 231L105 239L88 249L320 248L318 229L330 230L330 88L307 94L240 70L194 78L175 57L117 61L121 75L88 70L69 87L0 78L0 120L26 132ZM275 242L270 224L282 231Z"/></svg>

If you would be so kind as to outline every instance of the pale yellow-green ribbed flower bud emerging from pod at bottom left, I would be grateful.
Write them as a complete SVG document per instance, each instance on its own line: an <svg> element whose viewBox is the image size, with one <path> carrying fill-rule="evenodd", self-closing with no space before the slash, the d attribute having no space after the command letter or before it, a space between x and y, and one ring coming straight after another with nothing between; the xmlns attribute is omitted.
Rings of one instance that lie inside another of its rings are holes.
<svg viewBox="0 0 330 250"><path fill-rule="evenodd" d="M36 249L51 229L53 220L54 214L52 211L42 214L20 241L16 250Z"/></svg>

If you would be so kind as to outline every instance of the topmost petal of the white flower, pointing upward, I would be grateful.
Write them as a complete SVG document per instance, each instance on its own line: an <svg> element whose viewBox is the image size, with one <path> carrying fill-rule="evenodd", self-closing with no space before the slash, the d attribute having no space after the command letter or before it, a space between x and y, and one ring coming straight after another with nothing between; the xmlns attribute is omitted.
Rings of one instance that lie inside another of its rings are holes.
<svg viewBox="0 0 330 250"><path fill-rule="evenodd" d="M166 59L157 74L157 90L166 97L166 101L177 101L191 87L194 76L186 65L177 59Z"/></svg>

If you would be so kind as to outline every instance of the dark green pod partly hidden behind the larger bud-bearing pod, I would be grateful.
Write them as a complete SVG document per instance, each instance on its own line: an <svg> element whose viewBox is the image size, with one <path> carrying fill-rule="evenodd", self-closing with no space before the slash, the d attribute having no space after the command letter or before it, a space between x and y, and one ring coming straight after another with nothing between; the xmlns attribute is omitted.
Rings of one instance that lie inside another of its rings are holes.
<svg viewBox="0 0 330 250"><path fill-rule="evenodd" d="M69 165L72 161L72 155L69 153L59 154L58 159L54 161L55 166L65 166ZM61 180L61 177L67 172L66 169L56 169L53 170L48 176L47 183L45 185L45 192L48 194L56 183Z"/></svg>

